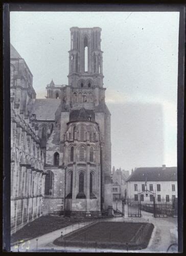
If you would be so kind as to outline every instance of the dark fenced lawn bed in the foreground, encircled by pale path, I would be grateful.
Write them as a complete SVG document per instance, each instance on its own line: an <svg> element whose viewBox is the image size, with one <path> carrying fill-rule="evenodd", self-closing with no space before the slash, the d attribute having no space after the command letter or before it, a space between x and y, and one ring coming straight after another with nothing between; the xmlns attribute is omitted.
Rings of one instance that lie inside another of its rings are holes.
<svg viewBox="0 0 186 256"><path fill-rule="evenodd" d="M148 246L154 225L133 222L97 222L66 234L59 246L142 249Z"/></svg>

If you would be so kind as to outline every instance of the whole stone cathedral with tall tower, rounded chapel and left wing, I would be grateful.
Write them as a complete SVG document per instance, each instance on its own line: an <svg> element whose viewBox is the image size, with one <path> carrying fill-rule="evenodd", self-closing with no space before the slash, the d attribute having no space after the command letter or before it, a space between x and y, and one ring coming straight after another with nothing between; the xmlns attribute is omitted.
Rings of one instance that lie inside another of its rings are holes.
<svg viewBox="0 0 186 256"><path fill-rule="evenodd" d="M42 215L112 214L101 28L70 31L68 84L52 80L45 99L10 46L12 233Z"/></svg>

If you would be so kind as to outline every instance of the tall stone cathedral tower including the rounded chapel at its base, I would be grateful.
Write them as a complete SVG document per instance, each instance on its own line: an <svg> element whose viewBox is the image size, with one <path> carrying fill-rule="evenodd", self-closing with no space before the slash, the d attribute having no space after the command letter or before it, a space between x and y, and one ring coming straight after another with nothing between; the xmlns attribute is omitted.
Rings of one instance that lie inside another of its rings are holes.
<svg viewBox="0 0 186 256"><path fill-rule="evenodd" d="M101 28L70 30L68 86L61 88L65 209L100 215L112 206L110 112L103 88Z"/></svg>

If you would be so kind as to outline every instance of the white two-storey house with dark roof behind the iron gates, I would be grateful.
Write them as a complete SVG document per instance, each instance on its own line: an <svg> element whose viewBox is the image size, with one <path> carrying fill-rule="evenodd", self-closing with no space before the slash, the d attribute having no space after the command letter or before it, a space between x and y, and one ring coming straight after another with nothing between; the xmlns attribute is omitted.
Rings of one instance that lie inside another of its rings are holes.
<svg viewBox="0 0 186 256"><path fill-rule="evenodd" d="M171 202L177 198L177 167L141 167L126 180L127 196L143 203Z"/></svg>

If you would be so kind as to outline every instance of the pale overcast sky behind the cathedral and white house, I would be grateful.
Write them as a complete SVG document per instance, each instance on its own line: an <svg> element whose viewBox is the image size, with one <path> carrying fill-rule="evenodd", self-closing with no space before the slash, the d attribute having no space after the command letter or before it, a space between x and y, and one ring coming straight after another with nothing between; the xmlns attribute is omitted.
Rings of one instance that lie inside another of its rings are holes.
<svg viewBox="0 0 186 256"><path fill-rule="evenodd" d="M71 27L101 27L112 165L177 166L179 12L11 12L10 40L37 98L67 84Z"/></svg>

